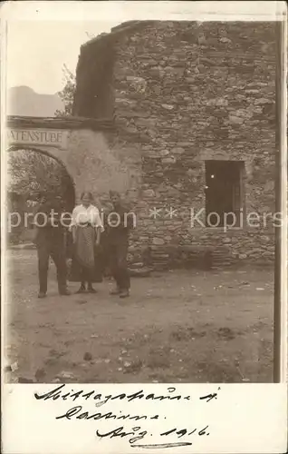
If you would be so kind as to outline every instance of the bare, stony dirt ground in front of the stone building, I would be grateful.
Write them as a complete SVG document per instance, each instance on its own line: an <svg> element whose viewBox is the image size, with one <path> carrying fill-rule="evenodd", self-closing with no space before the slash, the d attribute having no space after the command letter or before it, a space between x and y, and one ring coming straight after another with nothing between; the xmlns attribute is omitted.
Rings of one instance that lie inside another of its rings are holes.
<svg viewBox="0 0 288 454"><path fill-rule="evenodd" d="M60 297L51 265L38 300L35 252L7 252L7 267L6 380L272 381L273 271L158 272L120 300L110 281Z"/></svg>

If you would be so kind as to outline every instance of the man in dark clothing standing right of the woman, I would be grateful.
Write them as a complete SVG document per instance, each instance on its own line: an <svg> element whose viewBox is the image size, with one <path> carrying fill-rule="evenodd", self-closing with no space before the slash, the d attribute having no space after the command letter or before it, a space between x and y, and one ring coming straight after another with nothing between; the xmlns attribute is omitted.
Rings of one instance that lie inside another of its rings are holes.
<svg viewBox="0 0 288 454"><path fill-rule="evenodd" d="M116 281L116 288L112 295L127 298L130 295L130 273L128 270L127 254L129 247L129 232L133 226L128 210L125 209L120 193L110 191L110 201L113 210L110 212L107 224L107 248L109 254L110 271Z"/></svg>

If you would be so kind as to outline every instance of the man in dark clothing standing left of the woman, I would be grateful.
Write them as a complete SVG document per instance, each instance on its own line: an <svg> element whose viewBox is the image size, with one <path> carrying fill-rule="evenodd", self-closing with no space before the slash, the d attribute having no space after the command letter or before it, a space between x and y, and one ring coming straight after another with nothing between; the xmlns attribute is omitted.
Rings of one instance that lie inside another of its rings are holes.
<svg viewBox="0 0 288 454"><path fill-rule="evenodd" d="M69 295L66 282L65 232L61 222L62 204L57 198L42 200L35 213L37 228L35 245L38 254L39 294L44 298L47 292L49 259L53 259L57 270L60 295Z"/></svg>

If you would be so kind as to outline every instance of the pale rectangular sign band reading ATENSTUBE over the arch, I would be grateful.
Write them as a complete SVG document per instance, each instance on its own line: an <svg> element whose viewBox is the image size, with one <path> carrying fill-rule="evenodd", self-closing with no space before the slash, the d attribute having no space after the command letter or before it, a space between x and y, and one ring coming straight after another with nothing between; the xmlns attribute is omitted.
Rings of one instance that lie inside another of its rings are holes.
<svg viewBox="0 0 288 454"><path fill-rule="evenodd" d="M6 138L10 145L44 145L66 149L68 131L60 129L18 129L7 128Z"/></svg>

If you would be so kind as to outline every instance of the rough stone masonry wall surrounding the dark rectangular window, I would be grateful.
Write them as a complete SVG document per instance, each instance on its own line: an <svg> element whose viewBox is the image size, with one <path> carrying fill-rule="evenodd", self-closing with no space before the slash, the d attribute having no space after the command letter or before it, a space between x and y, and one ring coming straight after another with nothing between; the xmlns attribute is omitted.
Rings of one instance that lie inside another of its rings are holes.
<svg viewBox="0 0 288 454"><path fill-rule="evenodd" d="M190 225L190 208L205 207L205 160L244 161L245 212L274 212L273 26L156 22L121 35L116 49L119 141L141 156L134 244L164 254L223 245L244 261L273 260L271 219L231 232Z"/></svg>

